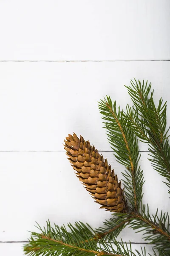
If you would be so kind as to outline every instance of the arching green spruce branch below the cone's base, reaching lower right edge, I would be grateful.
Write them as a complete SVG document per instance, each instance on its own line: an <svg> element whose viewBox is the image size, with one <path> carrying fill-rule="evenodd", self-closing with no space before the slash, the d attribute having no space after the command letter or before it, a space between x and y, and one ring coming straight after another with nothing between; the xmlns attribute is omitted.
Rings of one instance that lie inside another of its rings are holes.
<svg viewBox="0 0 170 256"><path fill-rule="evenodd" d="M170 219L168 213L159 216L158 209L155 215L150 215L149 207L142 204L140 212L114 213L113 218L104 222L104 227L96 230L96 236L103 240L116 238L119 233L129 226L136 233L144 232L143 239L154 245L154 248L167 250L170 253Z"/></svg>

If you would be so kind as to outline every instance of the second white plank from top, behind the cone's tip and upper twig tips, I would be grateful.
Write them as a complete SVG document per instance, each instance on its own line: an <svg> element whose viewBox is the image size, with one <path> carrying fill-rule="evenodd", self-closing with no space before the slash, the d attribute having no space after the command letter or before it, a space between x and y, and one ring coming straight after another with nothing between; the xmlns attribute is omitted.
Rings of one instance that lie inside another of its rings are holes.
<svg viewBox="0 0 170 256"><path fill-rule="evenodd" d="M170 125L169 70L170 61L0 62L0 150L63 150L73 131L111 150L97 102L110 95L125 108L133 77L152 82L157 102L168 101Z"/></svg>

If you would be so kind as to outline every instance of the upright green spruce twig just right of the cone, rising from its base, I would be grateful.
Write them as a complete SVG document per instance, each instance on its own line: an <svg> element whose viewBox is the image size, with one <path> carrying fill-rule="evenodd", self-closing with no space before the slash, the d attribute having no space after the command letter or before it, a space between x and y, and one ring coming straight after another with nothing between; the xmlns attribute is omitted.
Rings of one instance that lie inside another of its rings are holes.
<svg viewBox="0 0 170 256"><path fill-rule="evenodd" d="M124 111L116 109L116 102L107 96L99 102L99 110L107 129L108 140L114 155L119 163L127 169L122 175L125 177L125 194L132 204L133 210L139 211L142 201L142 186L144 183L143 171L138 167L140 159L139 147L136 136L130 128L130 121Z"/></svg>

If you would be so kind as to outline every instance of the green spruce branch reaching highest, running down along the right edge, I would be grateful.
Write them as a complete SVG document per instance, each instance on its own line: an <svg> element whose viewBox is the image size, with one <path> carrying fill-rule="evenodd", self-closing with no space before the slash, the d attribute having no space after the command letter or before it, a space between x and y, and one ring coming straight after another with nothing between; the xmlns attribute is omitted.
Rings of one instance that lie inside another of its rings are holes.
<svg viewBox="0 0 170 256"><path fill-rule="evenodd" d="M149 145L149 154L152 158L153 169L164 176L167 180L166 184L170 188L170 144L168 141L166 130L167 104L163 100L159 100L156 105L153 100L153 91L151 92L151 84L147 85L140 81L131 80L131 86L126 86L129 95L133 101L134 107L127 106L128 119L131 121L133 132L145 143ZM170 193L170 189L169 189Z"/></svg>

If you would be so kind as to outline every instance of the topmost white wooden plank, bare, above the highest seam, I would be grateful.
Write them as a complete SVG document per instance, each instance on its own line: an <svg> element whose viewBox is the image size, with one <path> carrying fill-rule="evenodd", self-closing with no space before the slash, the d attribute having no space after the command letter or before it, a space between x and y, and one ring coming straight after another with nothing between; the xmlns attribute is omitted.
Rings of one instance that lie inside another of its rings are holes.
<svg viewBox="0 0 170 256"><path fill-rule="evenodd" d="M0 60L170 59L169 0L0 1Z"/></svg>

